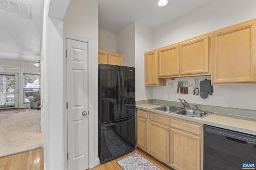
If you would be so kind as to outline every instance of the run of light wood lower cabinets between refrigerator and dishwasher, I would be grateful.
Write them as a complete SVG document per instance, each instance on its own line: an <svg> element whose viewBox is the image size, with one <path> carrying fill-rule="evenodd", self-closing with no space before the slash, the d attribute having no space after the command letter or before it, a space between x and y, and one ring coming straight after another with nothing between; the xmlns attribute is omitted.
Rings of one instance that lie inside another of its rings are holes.
<svg viewBox="0 0 256 170"><path fill-rule="evenodd" d="M137 109L137 147L176 170L202 170L203 125Z"/></svg>

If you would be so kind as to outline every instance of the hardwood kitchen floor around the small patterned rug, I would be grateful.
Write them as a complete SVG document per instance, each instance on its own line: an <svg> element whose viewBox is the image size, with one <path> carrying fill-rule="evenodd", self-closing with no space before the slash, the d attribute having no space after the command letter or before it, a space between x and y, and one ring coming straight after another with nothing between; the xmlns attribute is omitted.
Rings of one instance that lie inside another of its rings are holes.
<svg viewBox="0 0 256 170"><path fill-rule="evenodd" d="M170 167L165 166L164 164L162 164L158 160L152 158L152 156L146 154L145 152L141 151L140 149L135 149L134 151L132 151L132 152L130 152L130 153L124 155L124 156L121 156L121 157L116 158L114 160L110 160L110 161L108 161L104 164L100 164L100 165L98 165L95 168L92 168L90 170L122 170L122 168L116 163L116 161L118 161L122 158L125 158L126 156L129 156L131 154L134 154L135 152L138 152L139 154L144 156L146 159L150 160L150 162L152 162L153 164L155 164L156 166L158 166L162 170L171 170L172 169Z"/></svg>

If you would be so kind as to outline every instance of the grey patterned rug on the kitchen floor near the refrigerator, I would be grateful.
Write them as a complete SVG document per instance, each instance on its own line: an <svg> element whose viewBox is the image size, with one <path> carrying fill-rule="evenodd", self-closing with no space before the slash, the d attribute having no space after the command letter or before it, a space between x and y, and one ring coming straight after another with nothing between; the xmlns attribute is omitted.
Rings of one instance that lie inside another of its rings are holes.
<svg viewBox="0 0 256 170"><path fill-rule="evenodd" d="M137 152L116 161L116 163L118 163L123 170L162 170Z"/></svg>

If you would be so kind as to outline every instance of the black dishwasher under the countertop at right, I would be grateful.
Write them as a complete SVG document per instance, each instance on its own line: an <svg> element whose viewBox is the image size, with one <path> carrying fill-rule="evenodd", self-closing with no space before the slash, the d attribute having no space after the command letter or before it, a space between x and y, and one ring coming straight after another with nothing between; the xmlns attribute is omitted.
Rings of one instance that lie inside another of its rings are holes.
<svg viewBox="0 0 256 170"><path fill-rule="evenodd" d="M256 163L256 136L204 125L204 170L240 170Z"/></svg>

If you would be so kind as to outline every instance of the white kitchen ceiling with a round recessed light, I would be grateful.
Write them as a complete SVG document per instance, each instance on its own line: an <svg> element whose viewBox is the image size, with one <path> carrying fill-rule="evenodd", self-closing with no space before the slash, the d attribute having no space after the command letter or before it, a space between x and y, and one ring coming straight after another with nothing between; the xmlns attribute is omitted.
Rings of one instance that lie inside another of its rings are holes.
<svg viewBox="0 0 256 170"><path fill-rule="evenodd" d="M118 33L134 21L154 29L195 10L212 0L168 0L164 7L158 0L93 0L99 4L99 28Z"/></svg>

